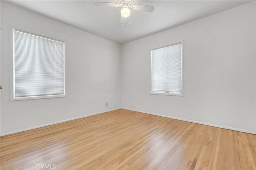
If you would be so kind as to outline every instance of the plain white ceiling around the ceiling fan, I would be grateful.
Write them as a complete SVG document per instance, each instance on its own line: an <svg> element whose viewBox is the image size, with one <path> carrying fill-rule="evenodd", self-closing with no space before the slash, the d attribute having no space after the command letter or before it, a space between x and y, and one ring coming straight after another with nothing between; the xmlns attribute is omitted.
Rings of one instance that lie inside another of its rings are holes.
<svg viewBox="0 0 256 170"><path fill-rule="evenodd" d="M98 0L98 2L100 1L102 0ZM152 13L131 10L130 17L124 26L120 23L121 7L95 6L94 2L96 1L19 0L8 2L111 41L124 44L250 1L134 0L133 4L152 5L155 6L155 10ZM104 2L118 3L118 0Z"/></svg>

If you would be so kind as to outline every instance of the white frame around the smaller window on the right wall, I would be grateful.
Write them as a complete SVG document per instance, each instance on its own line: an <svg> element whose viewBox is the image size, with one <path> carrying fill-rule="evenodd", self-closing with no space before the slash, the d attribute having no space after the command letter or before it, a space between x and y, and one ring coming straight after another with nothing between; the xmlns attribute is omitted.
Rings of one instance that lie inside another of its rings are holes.
<svg viewBox="0 0 256 170"><path fill-rule="evenodd" d="M181 43L181 72L182 72L182 74L181 74L181 76L182 76L182 83L181 83L181 89L182 89L182 91L181 91L181 93L179 93L179 92L153 92L153 70L152 70L152 51L153 50L156 50L156 49L161 49L161 48L165 48L165 47L170 47L170 46L172 46L172 45L176 45L176 44L180 44ZM150 51L150 53L151 53L151 57L150 57L150 59L151 59L151 87L150 87L150 89L151 89L151 92L150 92L150 94L154 94L154 95L167 95L167 96L184 96L184 40L182 40L182 41L177 41L177 42L175 42L175 43L170 43L169 45L163 45L163 46L161 46L161 47L156 47L156 48L153 48L153 49L151 49L151 51Z"/></svg>

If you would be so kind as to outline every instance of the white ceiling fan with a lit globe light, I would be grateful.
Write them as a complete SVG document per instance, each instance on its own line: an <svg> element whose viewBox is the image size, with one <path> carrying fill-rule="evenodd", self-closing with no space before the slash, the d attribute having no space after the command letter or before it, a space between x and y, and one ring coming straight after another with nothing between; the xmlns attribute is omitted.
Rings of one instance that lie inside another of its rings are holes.
<svg viewBox="0 0 256 170"><path fill-rule="evenodd" d="M154 11L154 6L132 4L132 0L119 0L119 3L95 2L94 4L96 6L122 7L120 23L124 23L126 21L126 18L130 16L131 11L129 8L131 8L132 10L140 10L140 11L146 11L146 12Z"/></svg>

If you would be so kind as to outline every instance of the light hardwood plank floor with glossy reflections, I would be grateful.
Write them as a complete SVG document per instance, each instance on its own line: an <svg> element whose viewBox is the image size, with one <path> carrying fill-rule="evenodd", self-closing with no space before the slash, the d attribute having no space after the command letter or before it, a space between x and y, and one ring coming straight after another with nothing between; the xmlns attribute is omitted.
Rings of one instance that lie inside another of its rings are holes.
<svg viewBox="0 0 256 170"><path fill-rule="evenodd" d="M1 170L36 164L65 170L256 169L256 135L118 109L1 137Z"/></svg>

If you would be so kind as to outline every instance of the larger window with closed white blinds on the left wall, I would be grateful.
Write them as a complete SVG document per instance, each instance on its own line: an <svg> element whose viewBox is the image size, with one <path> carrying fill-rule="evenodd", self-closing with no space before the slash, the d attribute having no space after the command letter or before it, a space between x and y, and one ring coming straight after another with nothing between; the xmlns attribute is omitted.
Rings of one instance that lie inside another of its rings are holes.
<svg viewBox="0 0 256 170"><path fill-rule="evenodd" d="M65 96L64 42L14 29L12 100Z"/></svg>

